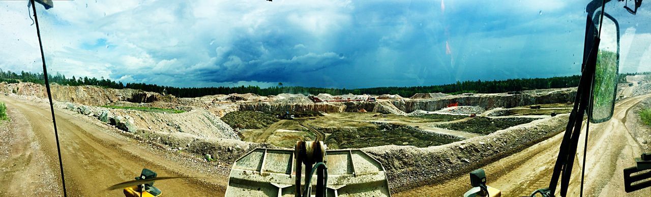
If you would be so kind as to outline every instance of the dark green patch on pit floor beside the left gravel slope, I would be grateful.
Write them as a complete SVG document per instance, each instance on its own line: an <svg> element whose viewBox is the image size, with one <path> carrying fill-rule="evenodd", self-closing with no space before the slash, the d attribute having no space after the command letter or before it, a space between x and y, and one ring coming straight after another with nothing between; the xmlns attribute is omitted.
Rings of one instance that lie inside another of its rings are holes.
<svg viewBox="0 0 651 197"><path fill-rule="evenodd" d="M234 111L226 114L221 120L230 127L241 129L263 129L279 121L272 114L257 111Z"/></svg>

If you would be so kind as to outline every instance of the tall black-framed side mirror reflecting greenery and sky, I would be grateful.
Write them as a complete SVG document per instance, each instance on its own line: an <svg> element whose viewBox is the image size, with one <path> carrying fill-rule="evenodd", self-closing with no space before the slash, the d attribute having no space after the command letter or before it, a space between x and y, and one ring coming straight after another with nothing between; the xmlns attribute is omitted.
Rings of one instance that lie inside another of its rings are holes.
<svg viewBox="0 0 651 197"><path fill-rule="evenodd" d="M601 11L594 14L599 24ZM599 26L596 26L599 29ZM590 122L606 122L613 117L617 94L617 71L619 69L619 24L607 13L603 14L600 44L592 88L592 114Z"/></svg>

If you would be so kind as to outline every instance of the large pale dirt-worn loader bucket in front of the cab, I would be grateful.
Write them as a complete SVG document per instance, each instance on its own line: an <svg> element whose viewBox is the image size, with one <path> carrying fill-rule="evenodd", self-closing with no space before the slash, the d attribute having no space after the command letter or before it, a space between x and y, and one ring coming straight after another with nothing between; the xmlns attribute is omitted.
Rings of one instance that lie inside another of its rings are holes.
<svg viewBox="0 0 651 197"><path fill-rule="evenodd" d="M364 151L327 150L326 161L326 196L391 196L382 164ZM292 150L257 148L233 164L226 196L294 197L295 165Z"/></svg>

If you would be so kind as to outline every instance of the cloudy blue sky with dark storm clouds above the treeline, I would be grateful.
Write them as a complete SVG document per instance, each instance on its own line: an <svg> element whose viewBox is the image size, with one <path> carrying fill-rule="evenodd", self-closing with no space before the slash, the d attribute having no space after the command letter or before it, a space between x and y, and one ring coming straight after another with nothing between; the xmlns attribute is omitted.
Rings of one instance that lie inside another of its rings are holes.
<svg viewBox="0 0 651 197"><path fill-rule="evenodd" d="M331 88L575 75L587 15L577 0L117 2L38 5L49 73ZM651 71L650 8L633 18L622 7L606 7L620 72ZM31 24L27 1L0 1L0 69L42 72Z"/></svg>

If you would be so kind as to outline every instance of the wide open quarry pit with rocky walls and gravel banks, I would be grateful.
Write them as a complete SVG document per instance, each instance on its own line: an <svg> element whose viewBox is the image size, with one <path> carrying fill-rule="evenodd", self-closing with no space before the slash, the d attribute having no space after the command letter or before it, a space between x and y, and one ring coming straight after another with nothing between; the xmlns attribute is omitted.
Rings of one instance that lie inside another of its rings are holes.
<svg viewBox="0 0 651 197"><path fill-rule="evenodd" d="M175 98L98 86L52 90L58 111L184 157L180 161L190 166L201 163L221 179L235 159L254 148L291 149L297 140L323 140L329 149L361 148L381 161L393 192L454 176L559 133L576 91L413 98L319 94L313 97L322 101L315 101L302 94ZM0 92L30 105L47 104L42 85L0 83ZM202 161L206 154L214 161ZM439 165L422 166L408 157ZM419 176L416 169L431 176Z"/></svg>

